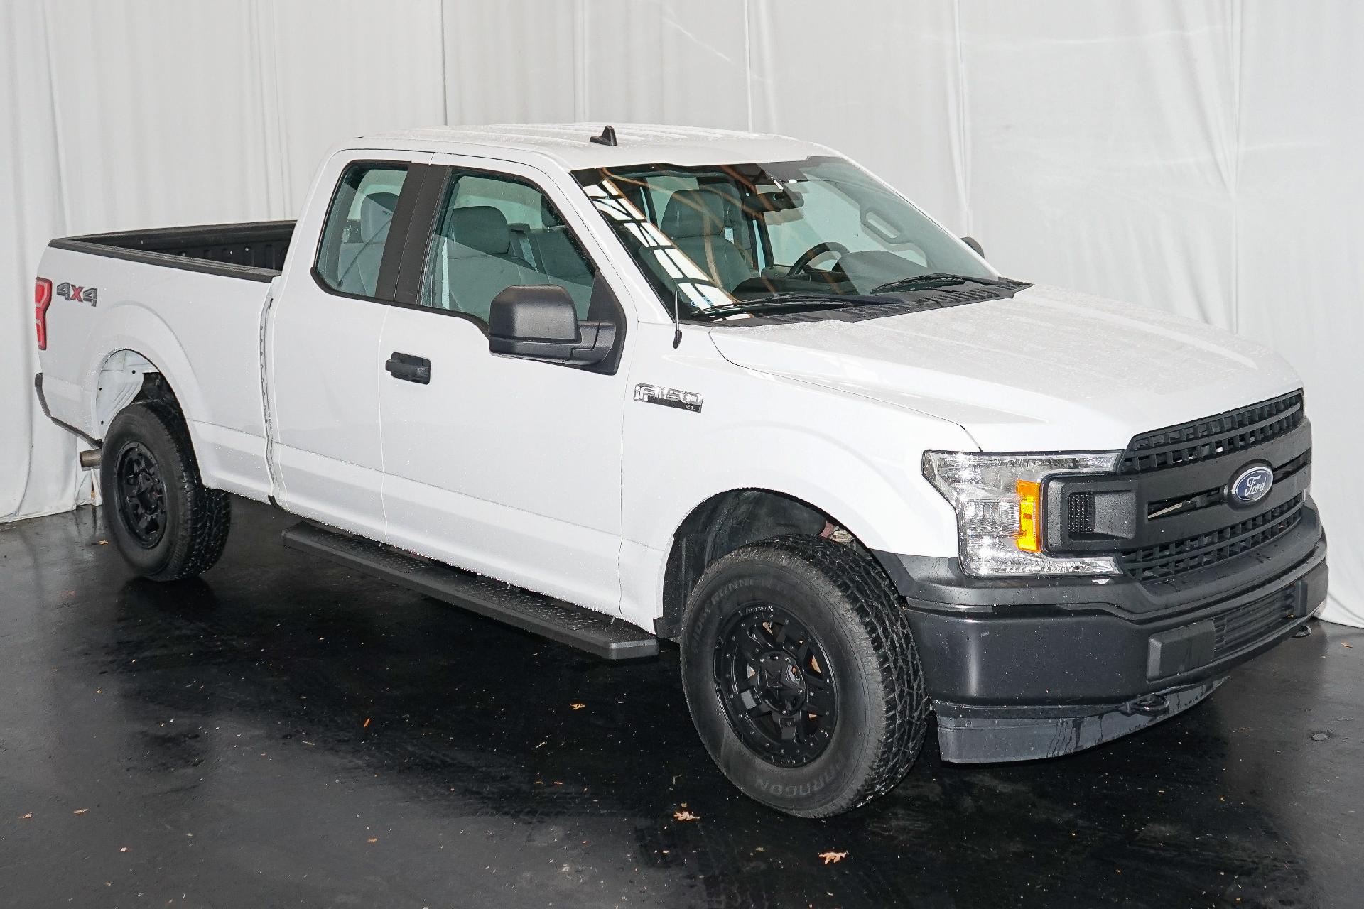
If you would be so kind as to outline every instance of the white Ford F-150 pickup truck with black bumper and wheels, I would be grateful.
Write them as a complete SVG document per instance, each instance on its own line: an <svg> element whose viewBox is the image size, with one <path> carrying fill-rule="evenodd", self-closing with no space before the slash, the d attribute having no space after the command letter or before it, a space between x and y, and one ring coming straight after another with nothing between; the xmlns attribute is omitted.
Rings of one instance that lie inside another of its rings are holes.
<svg viewBox="0 0 1364 909"><path fill-rule="evenodd" d="M285 542L606 658L681 646L803 816L1169 717L1326 594L1301 382L998 275L837 153L664 127L338 146L295 222L53 240L49 416L175 581Z"/></svg>

